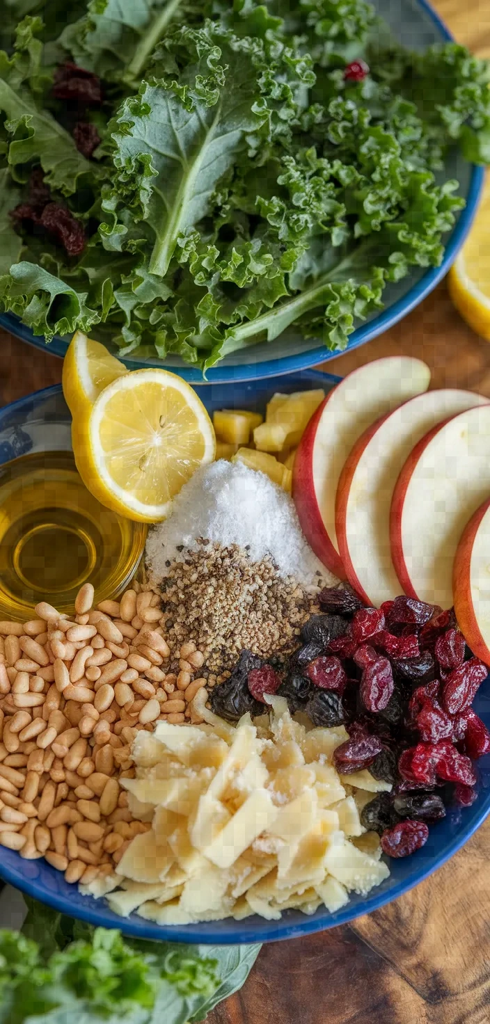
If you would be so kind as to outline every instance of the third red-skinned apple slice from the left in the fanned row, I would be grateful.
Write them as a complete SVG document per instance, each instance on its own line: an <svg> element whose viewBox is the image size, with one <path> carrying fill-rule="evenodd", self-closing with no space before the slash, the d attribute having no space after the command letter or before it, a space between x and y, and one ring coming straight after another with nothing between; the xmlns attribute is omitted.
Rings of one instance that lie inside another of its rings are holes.
<svg viewBox="0 0 490 1024"><path fill-rule="evenodd" d="M435 427L397 480L392 558L409 597L449 608L454 556L465 524L490 494L490 404Z"/></svg>

